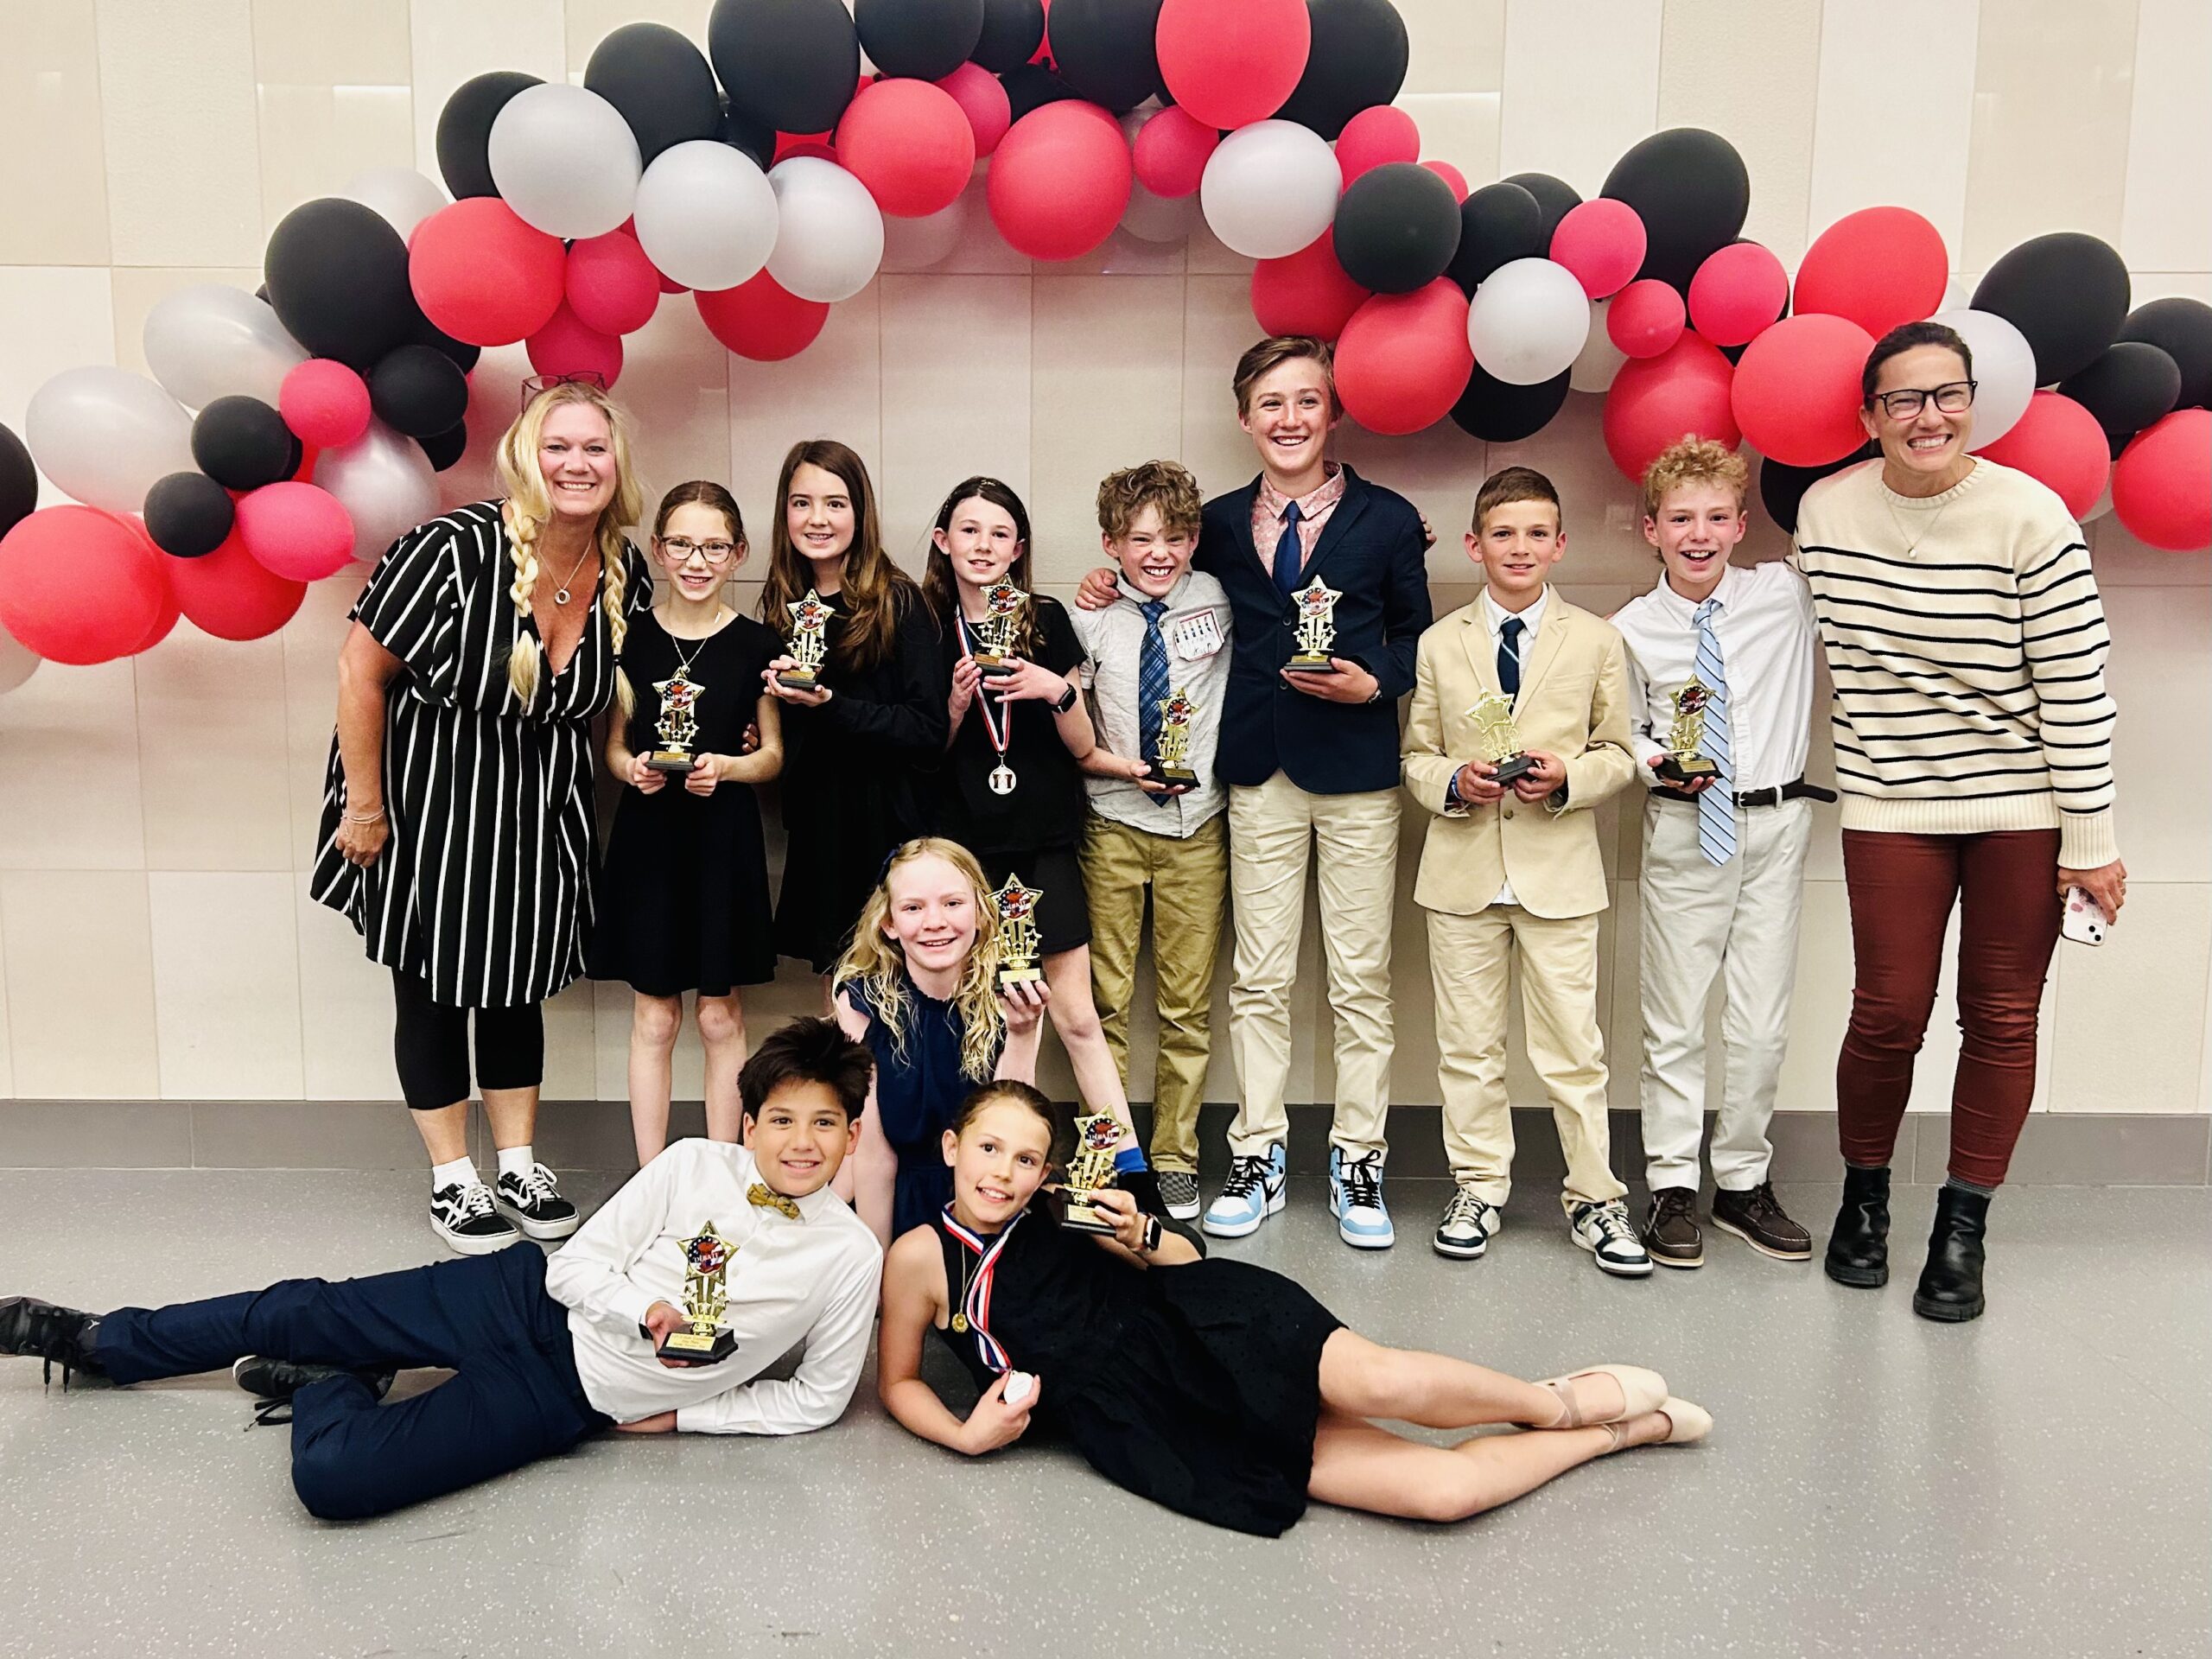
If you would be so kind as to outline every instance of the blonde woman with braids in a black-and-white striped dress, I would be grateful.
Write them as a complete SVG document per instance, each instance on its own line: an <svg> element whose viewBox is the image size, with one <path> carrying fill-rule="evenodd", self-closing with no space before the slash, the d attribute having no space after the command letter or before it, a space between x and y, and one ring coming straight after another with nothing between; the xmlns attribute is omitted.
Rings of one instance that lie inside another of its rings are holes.
<svg viewBox="0 0 2212 1659"><path fill-rule="evenodd" d="M593 741L653 586L622 411L535 389L500 438L500 500L420 524L378 560L338 653L338 732L314 898L392 969L400 1091L431 1161L431 1230L462 1254L564 1239L577 1212L531 1137L540 1004L584 969ZM500 1152L469 1157L476 1084Z"/></svg>

